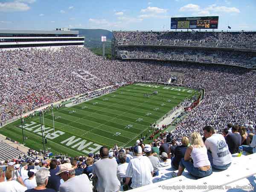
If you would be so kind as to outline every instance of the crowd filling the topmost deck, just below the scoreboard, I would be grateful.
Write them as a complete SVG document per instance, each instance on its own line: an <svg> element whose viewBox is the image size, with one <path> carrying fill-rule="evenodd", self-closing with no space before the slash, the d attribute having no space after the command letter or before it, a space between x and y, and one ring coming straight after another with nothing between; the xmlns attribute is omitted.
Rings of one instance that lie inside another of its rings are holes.
<svg viewBox="0 0 256 192"><path fill-rule="evenodd" d="M115 31L119 45L183 45L256 49L256 32L140 32Z"/></svg>

